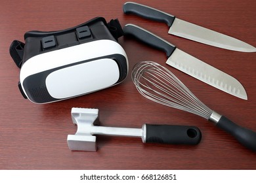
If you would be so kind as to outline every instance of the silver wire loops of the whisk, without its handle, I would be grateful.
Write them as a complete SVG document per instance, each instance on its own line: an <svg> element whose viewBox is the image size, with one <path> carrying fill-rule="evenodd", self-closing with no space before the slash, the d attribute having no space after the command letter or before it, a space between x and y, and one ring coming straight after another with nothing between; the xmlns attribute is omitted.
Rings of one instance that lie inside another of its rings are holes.
<svg viewBox="0 0 256 183"><path fill-rule="evenodd" d="M204 105L171 71L158 63L142 61L133 68L132 80L147 99L202 116L207 120L213 110Z"/></svg>

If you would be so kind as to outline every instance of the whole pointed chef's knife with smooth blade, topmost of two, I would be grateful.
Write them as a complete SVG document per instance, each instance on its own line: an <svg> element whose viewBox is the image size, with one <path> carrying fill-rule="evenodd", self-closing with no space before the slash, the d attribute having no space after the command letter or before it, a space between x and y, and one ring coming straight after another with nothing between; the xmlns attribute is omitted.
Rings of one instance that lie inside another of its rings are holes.
<svg viewBox="0 0 256 183"><path fill-rule="evenodd" d="M256 52L256 48L228 35L217 33L210 29L206 29L199 25L191 24L171 14L162 12L152 7L140 5L138 3L127 2L123 5L123 12L125 14L136 14L142 18L155 20L158 22L166 23L169 26L168 33L177 35L193 41L202 42L211 46L225 48L228 50L240 52Z"/></svg>

